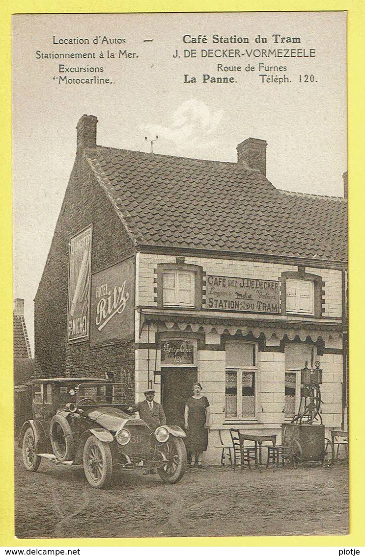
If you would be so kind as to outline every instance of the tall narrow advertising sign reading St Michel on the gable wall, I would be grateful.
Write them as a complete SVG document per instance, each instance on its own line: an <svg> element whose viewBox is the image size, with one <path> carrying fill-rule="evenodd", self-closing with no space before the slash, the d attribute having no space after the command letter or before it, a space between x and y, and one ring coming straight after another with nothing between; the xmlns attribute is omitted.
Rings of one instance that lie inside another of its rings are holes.
<svg viewBox="0 0 365 556"><path fill-rule="evenodd" d="M68 269L67 341L89 335L92 226L70 240Z"/></svg>

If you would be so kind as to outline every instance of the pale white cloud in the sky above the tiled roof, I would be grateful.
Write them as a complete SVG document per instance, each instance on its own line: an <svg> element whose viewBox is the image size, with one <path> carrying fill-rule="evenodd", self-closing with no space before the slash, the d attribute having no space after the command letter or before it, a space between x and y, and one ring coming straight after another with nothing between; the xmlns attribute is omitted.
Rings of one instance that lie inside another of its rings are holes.
<svg viewBox="0 0 365 556"><path fill-rule="evenodd" d="M223 119L223 111L213 111L195 98L183 102L171 115L169 126L150 124L144 126L147 137L159 136L169 149L178 154L202 151L215 142L214 132ZM157 149L156 149L157 152Z"/></svg>

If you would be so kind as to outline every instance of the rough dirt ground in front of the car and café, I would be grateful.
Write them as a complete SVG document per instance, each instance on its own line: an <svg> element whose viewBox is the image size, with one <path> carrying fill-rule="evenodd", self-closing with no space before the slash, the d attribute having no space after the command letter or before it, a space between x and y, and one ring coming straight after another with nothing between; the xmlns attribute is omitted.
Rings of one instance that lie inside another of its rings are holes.
<svg viewBox="0 0 365 556"><path fill-rule="evenodd" d="M176 485L141 471L92 489L82 467L43 460L23 468L16 449L18 538L230 537L348 533L348 465L235 472L187 470Z"/></svg>

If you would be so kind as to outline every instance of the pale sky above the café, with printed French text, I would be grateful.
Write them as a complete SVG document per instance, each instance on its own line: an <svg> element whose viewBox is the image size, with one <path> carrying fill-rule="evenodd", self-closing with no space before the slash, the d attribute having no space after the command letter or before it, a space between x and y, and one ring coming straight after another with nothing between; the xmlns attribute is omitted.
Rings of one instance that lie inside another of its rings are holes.
<svg viewBox="0 0 365 556"><path fill-rule="evenodd" d="M264 139L275 187L343 195L344 12L22 14L12 23L14 298L25 302L32 354L33 300L83 114L98 118L98 145L134 151L150 152L158 136L155 153L235 162L238 143ZM110 83L66 81L92 77Z"/></svg>

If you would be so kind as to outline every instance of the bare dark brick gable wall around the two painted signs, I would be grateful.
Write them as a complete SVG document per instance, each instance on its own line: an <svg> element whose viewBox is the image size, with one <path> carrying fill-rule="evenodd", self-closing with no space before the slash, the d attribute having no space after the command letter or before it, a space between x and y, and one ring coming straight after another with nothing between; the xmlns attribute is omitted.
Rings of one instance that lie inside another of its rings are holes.
<svg viewBox="0 0 365 556"><path fill-rule="evenodd" d="M67 345L68 257L71 236L93 225L92 274L134 253L132 241L88 163L77 157L35 299L36 374L98 376L113 371L134 399L134 341L90 349L88 341Z"/></svg>

